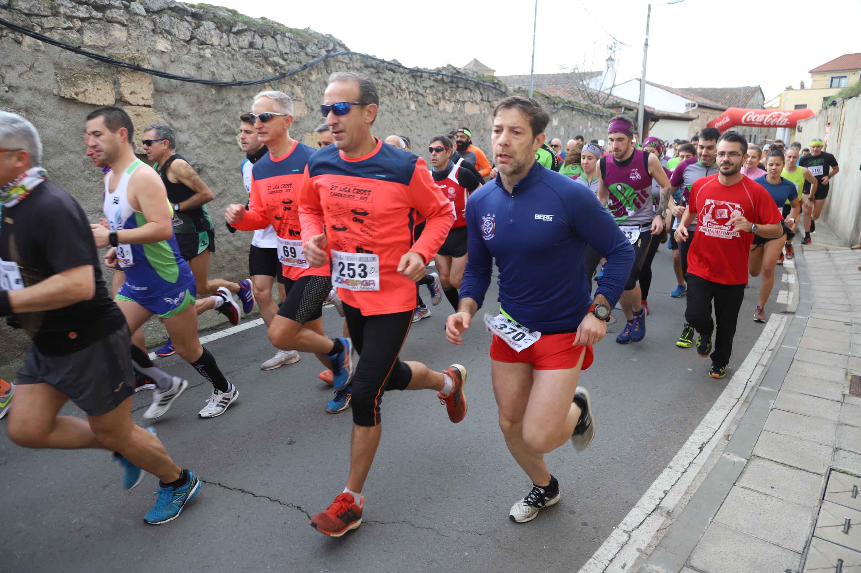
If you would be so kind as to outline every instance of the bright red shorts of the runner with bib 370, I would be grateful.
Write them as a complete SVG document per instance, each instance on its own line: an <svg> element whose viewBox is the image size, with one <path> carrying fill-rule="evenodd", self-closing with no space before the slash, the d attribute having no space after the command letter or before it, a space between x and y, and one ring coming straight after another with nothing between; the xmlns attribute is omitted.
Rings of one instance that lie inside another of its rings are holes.
<svg viewBox="0 0 861 573"><path fill-rule="evenodd" d="M497 362L532 364L535 370L566 370L575 367L585 351L581 368L585 370L592 365L595 355L592 346L573 346L575 338L577 333L542 334L535 344L517 352L494 334L490 358Z"/></svg>

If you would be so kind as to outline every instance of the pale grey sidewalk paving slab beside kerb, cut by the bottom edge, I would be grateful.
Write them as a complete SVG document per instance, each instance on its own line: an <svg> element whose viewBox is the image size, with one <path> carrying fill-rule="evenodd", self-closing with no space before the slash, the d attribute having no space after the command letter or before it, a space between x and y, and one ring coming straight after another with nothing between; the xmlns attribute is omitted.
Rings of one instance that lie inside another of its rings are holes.
<svg viewBox="0 0 861 573"><path fill-rule="evenodd" d="M796 570L801 554L713 523L688 564L703 573L764 573Z"/></svg>

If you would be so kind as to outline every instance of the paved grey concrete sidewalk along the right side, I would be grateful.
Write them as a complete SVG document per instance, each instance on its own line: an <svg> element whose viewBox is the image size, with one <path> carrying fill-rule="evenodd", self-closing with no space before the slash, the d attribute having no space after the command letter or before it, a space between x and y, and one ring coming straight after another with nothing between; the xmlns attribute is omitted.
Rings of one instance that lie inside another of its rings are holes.
<svg viewBox="0 0 861 573"><path fill-rule="evenodd" d="M817 231L759 388L639 573L861 571L861 252Z"/></svg>

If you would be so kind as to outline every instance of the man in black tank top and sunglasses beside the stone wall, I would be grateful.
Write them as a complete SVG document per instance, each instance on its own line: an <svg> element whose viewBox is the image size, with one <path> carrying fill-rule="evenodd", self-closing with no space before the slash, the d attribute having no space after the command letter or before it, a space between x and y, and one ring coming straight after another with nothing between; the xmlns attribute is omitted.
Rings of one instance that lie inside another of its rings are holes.
<svg viewBox="0 0 861 573"><path fill-rule="evenodd" d="M204 296L195 302L197 314L215 308L233 326L238 325L240 311L233 295L239 296L242 311L247 315L254 309L253 284L250 278L239 283L209 278L209 256L215 252L215 229L206 204L215 198L212 190L195 168L177 153L177 135L170 125L153 123L146 126L142 143L146 159L154 162L153 168L158 171L173 207L173 232L179 252L195 276L197 295ZM170 338L167 344L156 350L158 356L170 356L174 352Z"/></svg>

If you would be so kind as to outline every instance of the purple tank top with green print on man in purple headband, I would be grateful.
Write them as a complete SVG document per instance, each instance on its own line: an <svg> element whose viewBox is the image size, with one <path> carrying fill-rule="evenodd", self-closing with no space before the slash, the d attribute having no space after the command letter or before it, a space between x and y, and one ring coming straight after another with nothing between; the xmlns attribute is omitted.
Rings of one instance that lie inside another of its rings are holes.
<svg viewBox="0 0 861 573"><path fill-rule="evenodd" d="M607 210L619 225L652 223L652 176L648 173L647 157L642 149L635 149L627 165L617 165L612 155L601 159L604 184L610 190Z"/></svg>

